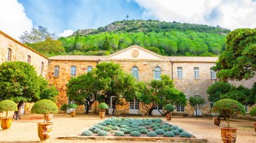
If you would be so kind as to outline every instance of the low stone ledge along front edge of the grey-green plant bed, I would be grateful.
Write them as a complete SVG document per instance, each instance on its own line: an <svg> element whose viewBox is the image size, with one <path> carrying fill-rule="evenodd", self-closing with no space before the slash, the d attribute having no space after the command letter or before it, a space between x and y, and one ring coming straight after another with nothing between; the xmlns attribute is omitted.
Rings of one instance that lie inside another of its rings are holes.
<svg viewBox="0 0 256 143"><path fill-rule="evenodd" d="M165 138L165 137L133 137L133 136L59 136L57 139L64 140L127 140L127 141L151 141L151 142L192 142L204 143L207 139L204 138Z"/></svg>

